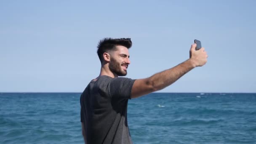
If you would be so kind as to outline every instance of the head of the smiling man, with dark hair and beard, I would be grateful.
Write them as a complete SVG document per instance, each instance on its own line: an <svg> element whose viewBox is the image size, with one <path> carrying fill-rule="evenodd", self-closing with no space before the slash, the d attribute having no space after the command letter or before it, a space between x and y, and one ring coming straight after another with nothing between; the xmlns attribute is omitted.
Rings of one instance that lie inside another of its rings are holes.
<svg viewBox="0 0 256 144"><path fill-rule="evenodd" d="M108 64L110 71L118 76L127 75L129 60L128 48L131 48L130 38L104 38L98 44L98 56L101 64Z"/></svg>

